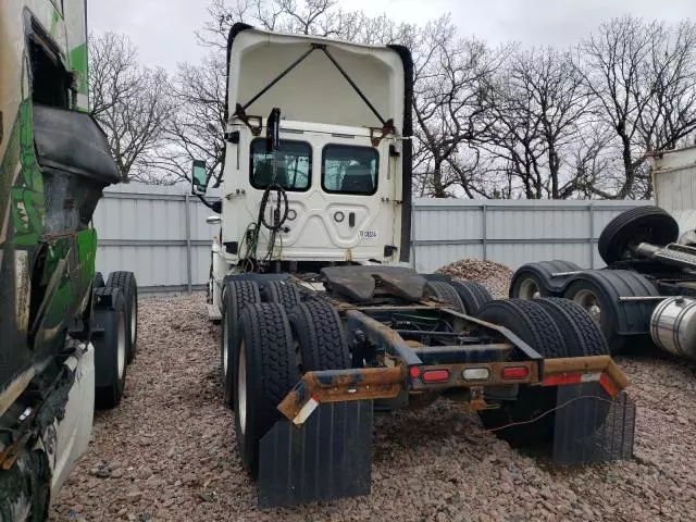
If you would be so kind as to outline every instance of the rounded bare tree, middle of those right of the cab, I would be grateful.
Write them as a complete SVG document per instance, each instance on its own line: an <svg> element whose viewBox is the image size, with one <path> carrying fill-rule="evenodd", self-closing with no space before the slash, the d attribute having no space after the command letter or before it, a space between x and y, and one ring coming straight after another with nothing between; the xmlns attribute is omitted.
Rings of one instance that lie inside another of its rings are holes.
<svg viewBox="0 0 696 522"><path fill-rule="evenodd" d="M572 157L581 153L589 97L569 54L518 50L482 90L481 103L490 123L475 139L497 159L493 171L507 179L508 197L517 188L527 199L585 194Z"/></svg>

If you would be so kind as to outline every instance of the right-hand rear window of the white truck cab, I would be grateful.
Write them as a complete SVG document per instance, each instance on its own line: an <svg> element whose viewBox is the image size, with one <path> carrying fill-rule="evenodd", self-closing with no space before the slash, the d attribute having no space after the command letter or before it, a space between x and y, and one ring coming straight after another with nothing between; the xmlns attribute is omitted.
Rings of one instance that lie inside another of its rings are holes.
<svg viewBox="0 0 696 522"><path fill-rule="evenodd" d="M360 195L377 191L380 154L372 147L327 145L322 156L325 191Z"/></svg>

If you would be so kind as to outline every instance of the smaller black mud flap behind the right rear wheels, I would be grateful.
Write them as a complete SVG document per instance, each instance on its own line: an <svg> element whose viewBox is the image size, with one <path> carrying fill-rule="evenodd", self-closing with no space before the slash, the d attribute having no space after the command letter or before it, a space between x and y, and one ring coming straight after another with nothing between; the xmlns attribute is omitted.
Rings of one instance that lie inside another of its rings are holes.
<svg viewBox="0 0 696 522"><path fill-rule="evenodd" d="M635 402L599 383L558 387L554 462L560 465L633 458Z"/></svg>

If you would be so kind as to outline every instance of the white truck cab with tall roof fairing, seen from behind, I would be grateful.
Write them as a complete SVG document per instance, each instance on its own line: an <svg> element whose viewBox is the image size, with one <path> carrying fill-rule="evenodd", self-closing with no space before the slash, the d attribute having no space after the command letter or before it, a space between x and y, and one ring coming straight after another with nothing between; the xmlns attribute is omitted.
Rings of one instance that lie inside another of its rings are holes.
<svg viewBox="0 0 696 522"><path fill-rule="evenodd" d="M232 273L408 262L411 94L399 46L232 28L213 309Z"/></svg>

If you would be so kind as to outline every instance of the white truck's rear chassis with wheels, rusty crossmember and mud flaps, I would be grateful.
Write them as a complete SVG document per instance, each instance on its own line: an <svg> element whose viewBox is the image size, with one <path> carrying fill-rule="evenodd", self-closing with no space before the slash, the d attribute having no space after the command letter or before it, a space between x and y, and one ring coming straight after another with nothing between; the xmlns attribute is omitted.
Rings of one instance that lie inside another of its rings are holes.
<svg viewBox="0 0 696 522"><path fill-rule="evenodd" d="M631 458L635 405L609 356L586 357L606 352L589 346L602 339L594 323L519 300L468 315L456 293L438 293L471 285L359 265L225 279L223 302L236 298L223 307L226 397L261 507L369 494L373 411L440 396L511 443L552 445L560 464Z"/></svg>

